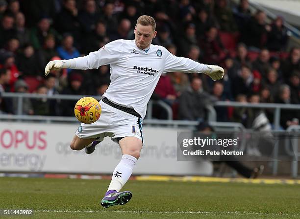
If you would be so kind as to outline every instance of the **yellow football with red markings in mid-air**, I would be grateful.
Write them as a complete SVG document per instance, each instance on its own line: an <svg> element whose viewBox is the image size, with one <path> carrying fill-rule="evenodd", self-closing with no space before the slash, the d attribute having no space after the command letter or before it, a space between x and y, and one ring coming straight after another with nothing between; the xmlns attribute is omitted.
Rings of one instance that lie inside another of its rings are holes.
<svg viewBox="0 0 300 219"><path fill-rule="evenodd" d="M77 101L74 109L75 117L82 123L96 122L101 114L101 107L93 97L83 97Z"/></svg>

